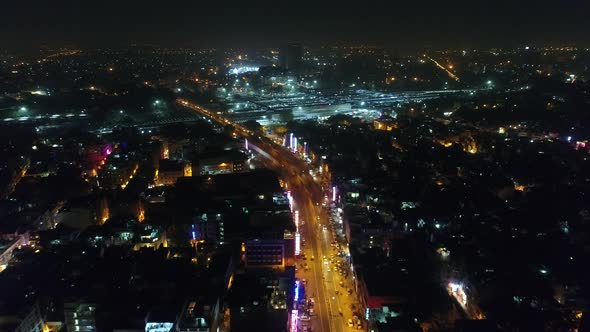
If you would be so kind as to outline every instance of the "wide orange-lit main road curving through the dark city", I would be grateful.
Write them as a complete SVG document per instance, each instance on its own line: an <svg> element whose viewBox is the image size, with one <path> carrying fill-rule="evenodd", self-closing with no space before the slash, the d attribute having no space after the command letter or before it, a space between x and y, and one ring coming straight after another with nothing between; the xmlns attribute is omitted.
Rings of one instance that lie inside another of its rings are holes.
<svg viewBox="0 0 590 332"><path fill-rule="evenodd" d="M312 331L320 332L352 331L346 321L352 317L354 295L347 295L345 288L339 284L344 281L344 285L349 286L352 282L339 277L335 269L328 271L332 263L325 264L323 260L324 257L329 259L334 253L331 248L334 235L329 227L327 211L321 204L326 192L320 182L325 185L329 179L325 177L314 180L309 173L309 164L266 137L256 136L241 125L186 100L179 99L177 102L221 125L234 127L237 134L248 138L250 149L263 157L260 162L278 172L291 191L294 208L299 211L299 219L304 222L300 232L306 240L302 252L307 258L297 260L297 277L307 281L307 297L315 300L315 313L311 321L300 321L300 326L311 324ZM327 226L326 230L323 226ZM308 269L304 268L305 264L308 264Z"/></svg>

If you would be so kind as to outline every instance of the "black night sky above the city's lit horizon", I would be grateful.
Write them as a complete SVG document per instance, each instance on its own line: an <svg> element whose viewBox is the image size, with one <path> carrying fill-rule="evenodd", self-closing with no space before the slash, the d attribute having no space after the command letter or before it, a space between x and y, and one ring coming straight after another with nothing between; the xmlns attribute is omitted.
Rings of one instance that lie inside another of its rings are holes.
<svg viewBox="0 0 590 332"><path fill-rule="evenodd" d="M3 1L0 42L37 46L590 46L587 0Z"/></svg>

